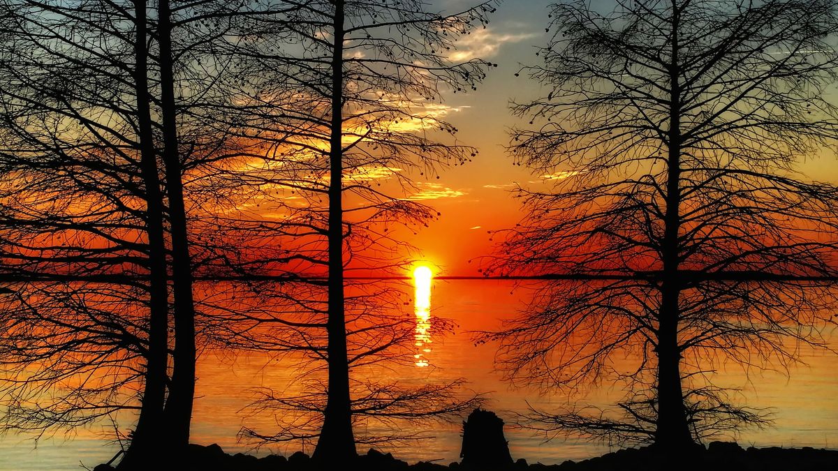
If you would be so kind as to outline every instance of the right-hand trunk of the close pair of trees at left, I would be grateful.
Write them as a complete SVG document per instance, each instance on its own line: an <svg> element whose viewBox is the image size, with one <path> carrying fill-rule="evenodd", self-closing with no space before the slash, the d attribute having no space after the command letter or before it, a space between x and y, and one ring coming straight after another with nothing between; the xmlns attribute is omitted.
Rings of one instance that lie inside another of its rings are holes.
<svg viewBox="0 0 838 471"><path fill-rule="evenodd" d="M163 116L163 163L166 168L169 218L172 230L174 295L174 354L172 385L166 401L169 447L182 457L189 444L189 425L195 391L195 316L192 261L189 256L183 166L178 153L174 101L172 23L168 0L158 0L160 88Z"/></svg>

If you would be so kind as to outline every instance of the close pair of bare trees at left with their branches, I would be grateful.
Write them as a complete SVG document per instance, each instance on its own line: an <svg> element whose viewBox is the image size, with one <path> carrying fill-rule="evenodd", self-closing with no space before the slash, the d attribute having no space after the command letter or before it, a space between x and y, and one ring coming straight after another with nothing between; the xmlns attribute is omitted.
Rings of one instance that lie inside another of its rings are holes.
<svg viewBox="0 0 838 471"><path fill-rule="evenodd" d="M215 83L206 70L194 74L207 54L194 46L206 46L220 25L210 33L193 23L213 15L229 22L235 11L181 6L188 19L173 47L171 22L149 18L145 2L3 8L3 275L20 282L3 315L3 361L16 374L3 388L16 411L6 426L72 427L137 408L121 467L147 467L154 450L182 451L189 441L194 264L182 161L194 170L229 150L224 133L205 136L194 117L196 107L214 105L206 96ZM194 95L176 102L184 82ZM199 245L197 255L210 263L221 246Z"/></svg>

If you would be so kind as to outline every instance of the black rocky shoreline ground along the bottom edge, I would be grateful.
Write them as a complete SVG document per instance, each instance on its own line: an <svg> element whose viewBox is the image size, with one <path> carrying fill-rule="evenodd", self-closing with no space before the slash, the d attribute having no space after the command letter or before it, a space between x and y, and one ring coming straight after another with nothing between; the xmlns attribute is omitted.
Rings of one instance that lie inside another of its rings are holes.
<svg viewBox="0 0 838 471"><path fill-rule="evenodd" d="M815 448L747 448L736 443L714 442L706 449L683 456L666 456L652 448L629 448L601 457L580 462L566 461L561 464L545 465L526 463L518 459L509 465L501 463L478 463L472 466L461 463L442 465L439 463L407 464L393 458L390 453L375 450L361 455L354 463L327 468L315 466L303 453L294 453L285 458L271 455L256 458L236 453L229 455L218 445L203 447L191 445L189 469L194 471L320 471L323 469L347 469L349 471L443 471L457 469L504 471L838 471L838 450ZM106 465L97 466L94 471L109 471Z"/></svg>

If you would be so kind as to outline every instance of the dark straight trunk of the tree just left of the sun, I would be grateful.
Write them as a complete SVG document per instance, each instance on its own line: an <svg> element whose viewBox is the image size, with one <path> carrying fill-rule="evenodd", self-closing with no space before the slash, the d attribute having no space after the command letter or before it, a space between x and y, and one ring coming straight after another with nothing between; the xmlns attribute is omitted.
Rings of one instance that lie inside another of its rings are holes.
<svg viewBox="0 0 838 471"><path fill-rule="evenodd" d="M330 134L330 181L328 187L328 399L313 458L327 463L346 463L356 455L349 399L349 361L344 318L344 210L343 210L343 91L344 2L334 10L332 55L332 120Z"/></svg>

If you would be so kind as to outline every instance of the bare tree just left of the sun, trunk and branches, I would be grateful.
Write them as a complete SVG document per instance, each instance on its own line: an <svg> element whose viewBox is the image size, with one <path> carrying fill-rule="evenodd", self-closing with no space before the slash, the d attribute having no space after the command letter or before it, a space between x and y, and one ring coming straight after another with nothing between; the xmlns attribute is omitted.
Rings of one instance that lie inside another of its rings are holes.
<svg viewBox="0 0 838 471"><path fill-rule="evenodd" d="M269 189L265 204L283 214L267 223L282 247L268 257L274 272L328 280L325 292L317 283L300 288L290 310L300 318L283 323L279 335L288 337L278 344L328 365L319 387L328 391L323 404L323 396L284 404L323 412L320 430L304 437L318 438L314 458L341 462L355 455L353 414L379 409L387 402L380 398L395 391L353 378L350 367L378 361L385 351L391 352L385 358L401 358L392 352L412 338L408 319L386 313L386 292L347 280L344 272L386 275L403 267L388 255L403 245L387 233L390 226L423 224L436 215L405 194L419 186L408 172L430 175L475 152L442 141L455 129L435 108L443 90L471 89L483 79L489 63L452 63L448 51L485 23L492 8L481 3L443 15L413 0L287 5L300 8L254 18L249 35L236 37L239 47L250 48L241 60L254 67L242 80L251 113L242 119L270 148L246 178L261 179ZM353 407L353 387L360 391L356 399L370 398L366 406ZM409 417L402 403L390 402Z"/></svg>

